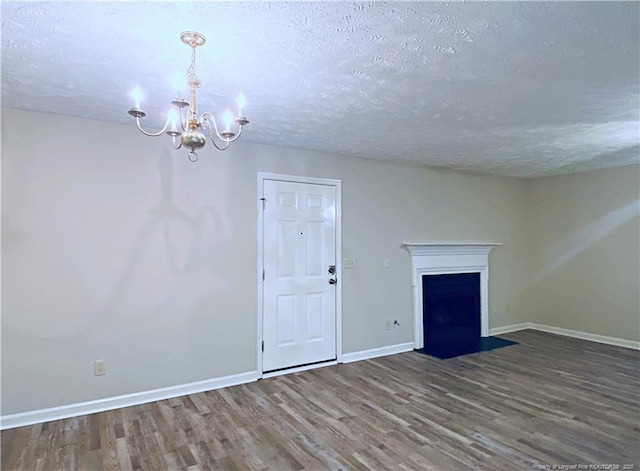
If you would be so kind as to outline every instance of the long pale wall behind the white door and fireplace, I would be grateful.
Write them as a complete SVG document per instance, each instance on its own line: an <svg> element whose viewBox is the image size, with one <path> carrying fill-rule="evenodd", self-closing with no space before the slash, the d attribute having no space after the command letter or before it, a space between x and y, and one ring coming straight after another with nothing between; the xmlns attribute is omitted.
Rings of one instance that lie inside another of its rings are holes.
<svg viewBox="0 0 640 471"><path fill-rule="evenodd" d="M520 180L2 113L2 415L256 370L257 172L343 182L345 353L412 341L407 239L503 242L490 327L527 320Z"/></svg>

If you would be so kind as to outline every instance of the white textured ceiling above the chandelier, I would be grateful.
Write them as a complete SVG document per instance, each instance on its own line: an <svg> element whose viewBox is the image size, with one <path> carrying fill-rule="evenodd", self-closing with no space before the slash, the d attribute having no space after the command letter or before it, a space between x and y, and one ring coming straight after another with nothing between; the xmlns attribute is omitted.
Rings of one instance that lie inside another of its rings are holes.
<svg viewBox="0 0 640 471"><path fill-rule="evenodd" d="M139 84L160 124L195 30L200 111L243 91L245 141L521 177L640 159L638 2L1 8L11 108L129 123Z"/></svg>

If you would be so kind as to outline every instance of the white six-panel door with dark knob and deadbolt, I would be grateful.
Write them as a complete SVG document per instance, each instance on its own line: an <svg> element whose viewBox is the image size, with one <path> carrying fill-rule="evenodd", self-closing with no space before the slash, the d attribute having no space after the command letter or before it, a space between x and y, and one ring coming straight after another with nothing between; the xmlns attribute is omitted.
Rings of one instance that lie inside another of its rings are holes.
<svg viewBox="0 0 640 471"><path fill-rule="evenodd" d="M263 185L263 371L334 360L336 188Z"/></svg>

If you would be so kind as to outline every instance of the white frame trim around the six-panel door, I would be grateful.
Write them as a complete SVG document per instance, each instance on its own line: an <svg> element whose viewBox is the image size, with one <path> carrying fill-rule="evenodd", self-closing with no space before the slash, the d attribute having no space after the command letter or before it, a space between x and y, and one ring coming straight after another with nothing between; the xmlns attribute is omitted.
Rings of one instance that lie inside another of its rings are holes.
<svg viewBox="0 0 640 471"><path fill-rule="evenodd" d="M264 212L262 204L264 198L263 188L265 180L275 180L280 182L316 184L333 186L336 190L336 277L338 284L336 285L336 361L326 363L317 363L309 366L292 367L277 372L276 374L294 373L312 368L319 368L330 364L342 363L342 181L331 178L303 177L297 175L283 175L279 173L258 172L258 198L256 198L256 208L258 210L258 240L257 240L257 331L256 331L256 370L260 378L264 375L262 364L262 339L263 335L263 318L264 318L264 302L263 302L263 283L262 270L264 269ZM274 375L270 373L269 376Z"/></svg>

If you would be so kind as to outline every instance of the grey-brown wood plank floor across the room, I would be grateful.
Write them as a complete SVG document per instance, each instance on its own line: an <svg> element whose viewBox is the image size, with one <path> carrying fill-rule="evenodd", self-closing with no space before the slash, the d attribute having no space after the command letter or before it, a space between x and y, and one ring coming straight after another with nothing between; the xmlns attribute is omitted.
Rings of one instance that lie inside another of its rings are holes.
<svg viewBox="0 0 640 471"><path fill-rule="evenodd" d="M640 469L640 352L502 337L6 430L2 470Z"/></svg>

